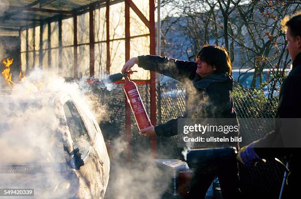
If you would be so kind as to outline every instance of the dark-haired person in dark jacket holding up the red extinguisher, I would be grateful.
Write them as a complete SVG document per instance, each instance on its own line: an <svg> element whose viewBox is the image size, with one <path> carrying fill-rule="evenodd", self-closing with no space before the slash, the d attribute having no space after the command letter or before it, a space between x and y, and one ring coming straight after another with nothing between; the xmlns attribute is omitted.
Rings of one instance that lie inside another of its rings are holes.
<svg viewBox="0 0 301 199"><path fill-rule="evenodd" d="M124 64L121 72L128 72L135 64L145 70L172 77L186 85L184 118L237 118L231 96L231 90L234 86L232 66L225 48L204 46L197 54L196 62L154 55L133 57ZM177 121L178 119L173 119L166 124L150 126L141 129L139 133L144 136L156 134L169 137L177 135ZM189 198L204 198L216 175L219 177L224 198L238 198L237 163L232 164L224 172L212 172L194 177Z"/></svg>

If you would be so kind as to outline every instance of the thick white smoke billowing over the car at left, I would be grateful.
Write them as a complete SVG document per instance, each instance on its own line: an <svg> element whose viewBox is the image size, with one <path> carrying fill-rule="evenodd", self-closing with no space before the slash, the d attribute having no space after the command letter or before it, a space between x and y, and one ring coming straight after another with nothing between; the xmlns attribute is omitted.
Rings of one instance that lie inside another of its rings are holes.
<svg viewBox="0 0 301 199"><path fill-rule="evenodd" d="M31 188L35 198L70 198L78 192L81 181L66 165L70 154L63 146L72 141L66 137L68 127L62 125L59 106L53 101L59 91L85 103L78 97L77 84L65 83L62 77L39 69L21 84L2 90L0 188ZM15 170L7 169L12 167ZM16 168L19 172L14 172ZM81 195L90 198L90 193Z"/></svg>

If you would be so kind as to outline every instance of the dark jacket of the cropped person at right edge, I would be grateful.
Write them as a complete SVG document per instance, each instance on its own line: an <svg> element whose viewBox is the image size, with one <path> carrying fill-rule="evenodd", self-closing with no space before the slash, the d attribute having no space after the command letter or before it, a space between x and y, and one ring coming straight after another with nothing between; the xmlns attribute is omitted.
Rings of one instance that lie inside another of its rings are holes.
<svg viewBox="0 0 301 199"><path fill-rule="evenodd" d="M280 89L279 104L275 118L290 118L293 121L295 118L301 118L301 53L299 53L293 62L293 69L288 77L283 81ZM288 186L285 186L283 199L295 198L299 195L299 184L301 178L301 143L300 143L300 128L295 128L292 124L290 132L280 131L281 125L290 124L275 124L275 130L268 133L264 138L256 141L254 144L255 152L260 158L272 159L274 157L285 156L289 162L291 173L288 175ZM283 129L283 128L282 128ZM290 137L288 139L287 135ZM300 143L298 148L291 148L288 142Z"/></svg>

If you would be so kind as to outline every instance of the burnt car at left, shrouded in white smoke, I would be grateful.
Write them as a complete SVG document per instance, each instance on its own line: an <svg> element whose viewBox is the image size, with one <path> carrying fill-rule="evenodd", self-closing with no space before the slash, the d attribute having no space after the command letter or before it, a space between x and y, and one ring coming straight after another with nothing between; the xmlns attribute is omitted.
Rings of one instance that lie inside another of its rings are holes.
<svg viewBox="0 0 301 199"><path fill-rule="evenodd" d="M0 188L38 198L104 198L110 159L101 130L76 95L0 96Z"/></svg>

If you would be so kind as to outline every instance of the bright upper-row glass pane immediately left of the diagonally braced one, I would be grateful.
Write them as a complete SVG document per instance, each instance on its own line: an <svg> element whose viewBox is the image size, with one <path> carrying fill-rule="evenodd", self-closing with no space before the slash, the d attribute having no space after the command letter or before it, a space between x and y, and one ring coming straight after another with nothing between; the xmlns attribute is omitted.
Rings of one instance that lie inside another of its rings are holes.
<svg viewBox="0 0 301 199"><path fill-rule="evenodd" d="M124 2L110 6L110 39L125 37Z"/></svg>

